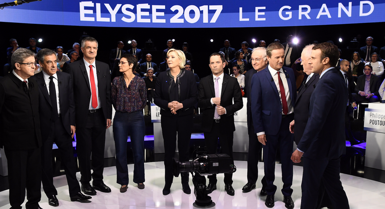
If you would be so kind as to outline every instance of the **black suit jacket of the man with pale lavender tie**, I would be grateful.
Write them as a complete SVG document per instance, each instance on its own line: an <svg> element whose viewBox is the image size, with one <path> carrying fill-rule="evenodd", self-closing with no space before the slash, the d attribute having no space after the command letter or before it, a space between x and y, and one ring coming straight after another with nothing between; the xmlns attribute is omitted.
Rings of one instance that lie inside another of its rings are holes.
<svg viewBox="0 0 385 209"><path fill-rule="evenodd" d="M202 131L211 132L214 119L215 104L211 104L211 98L215 97L213 75L202 78L198 87L198 107L203 113ZM234 103L232 102L234 100ZM221 90L221 106L226 109L226 114L221 115L219 125L222 130L235 131L234 113L243 107L241 88L238 80L224 74Z"/></svg>

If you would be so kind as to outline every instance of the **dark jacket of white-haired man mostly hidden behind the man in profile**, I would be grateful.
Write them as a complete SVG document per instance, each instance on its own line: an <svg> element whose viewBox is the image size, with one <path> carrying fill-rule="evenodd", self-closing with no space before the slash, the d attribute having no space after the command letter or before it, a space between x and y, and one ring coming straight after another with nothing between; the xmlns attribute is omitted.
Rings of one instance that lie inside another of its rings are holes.
<svg viewBox="0 0 385 209"><path fill-rule="evenodd" d="M308 83L303 85L297 94L297 100L295 101L294 108L294 140L295 144L298 144L302 135L304 134L306 124L308 123L309 118L309 103L311 93L313 93L314 88L316 87L318 81L320 80L319 74L314 74L311 76ZM306 81L306 80L305 80Z"/></svg>

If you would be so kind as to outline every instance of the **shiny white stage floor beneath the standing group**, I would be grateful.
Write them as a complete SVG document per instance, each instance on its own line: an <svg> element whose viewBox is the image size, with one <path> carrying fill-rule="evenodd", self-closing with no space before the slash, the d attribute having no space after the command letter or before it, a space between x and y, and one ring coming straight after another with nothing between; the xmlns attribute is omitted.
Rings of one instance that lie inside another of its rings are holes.
<svg viewBox="0 0 385 209"><path fill-rule="evenodd" d="M263 176L263 163L258 164L259 176L257 189L249 193L242 193L242 187L247 183L247 162L235 161L237 171L233 174L233 188L235 196L230 196L224 190L223 174L218 174L217 190L213 191L210 196L216 204L213 209L267 209L265 206L265 198L260 197L261 178ZM132 182L134 165L129 167L129 188L127 192L120 193L120 185L116 184L116 168L108 167L104 169L104 183L108 185L112 192L98 192L91 199L92 203L71 202L68 195L68 186L65 175L54 178L55 186L58 190L58 207L48 205L48 199L44 192L41 192L40 207L43 209L193 209L195 196L182 192L182 185L179 178L174 178L171 193L164 196L162 189L164 186L164 165L163 162L145 163L146 182L145 189L139 190ZM283 201L283 195L280 192L282 188L281 166L276 164L276 180L277 192L275 193L274 209L286 209ZM80 179L80 173L77 173ZM193 182L190 175L190 187L193 191ZM293 186L294 190L292 198L295 209L300 208L301 203L301 179L302 167L294 166L293 168ZM341 181L345 188L347 198L349 199L350 209L384 209L385 208L385 184L365 178L352 175L341 174ZM42 190L41 190L42 191ZM25 201L26 202L26 201ZM25 204L24 202L24 204ZM0 209L9 209L8 190L0 192ZM24 205L23 205L24 208Z"/></svg>

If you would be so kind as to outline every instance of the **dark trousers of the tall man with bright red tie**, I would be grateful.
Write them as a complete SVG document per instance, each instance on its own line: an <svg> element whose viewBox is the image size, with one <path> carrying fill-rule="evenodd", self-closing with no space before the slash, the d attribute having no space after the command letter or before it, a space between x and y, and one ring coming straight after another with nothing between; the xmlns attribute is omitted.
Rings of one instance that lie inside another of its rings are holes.
<svg viewBox="0 0 385 209"><path fill-rule="evenodd" d="M86 124L76 130L76 149L80 168L80 183L89 184L91 178L96 184L103 183L104 144L106 124L103 110L88 112ZM90 156L92 153L92 164ZM93 173L91 174L91 169Z"/></svg>

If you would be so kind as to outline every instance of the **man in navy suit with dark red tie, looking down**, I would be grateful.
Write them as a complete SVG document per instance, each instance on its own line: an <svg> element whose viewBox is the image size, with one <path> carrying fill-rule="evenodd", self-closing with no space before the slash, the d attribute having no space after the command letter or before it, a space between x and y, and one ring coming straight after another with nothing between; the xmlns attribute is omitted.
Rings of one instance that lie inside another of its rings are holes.
<svg viewBox="0 0 385 209"><path fill-rule="evenodd" d="M291 199L293 190L293 167L290 156L293 148L289 123L294 119L296 84L291 68L283 67L285 50L280 43L271 43L266 51L269 66L255 73L251 80L251 115L254 133L263 144L266 192L265 205L274 207L275 156L280 149L282 163L282 193L285 207L294 208ZM281 100L282 98L282 100Z"/></svg>

